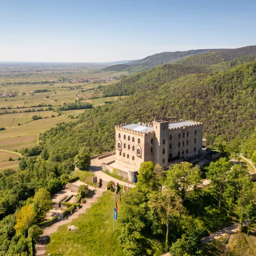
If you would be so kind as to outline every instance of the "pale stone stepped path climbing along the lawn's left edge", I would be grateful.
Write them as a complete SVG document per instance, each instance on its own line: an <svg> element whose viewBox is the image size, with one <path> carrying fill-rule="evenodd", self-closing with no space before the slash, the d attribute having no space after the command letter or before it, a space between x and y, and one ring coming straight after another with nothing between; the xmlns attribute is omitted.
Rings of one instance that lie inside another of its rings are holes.
<svg viewBox="0 0 256 256"><path fill-rule="evenodd" d="M45 255L45 251L46 251L45 246L49 242L51 234L56 232L60 226L65 225L69 222L72 222L72 220L75 218L78 218L80 216L80 214L85 213L88 210L88 208L91 207L91 205L93 203L96 203L98 201L98 197L101 196L104 191L106 191L106 190L96 189L94 192L94 195L92 197L86 199L86 203L80 204L80 208L77 209L72 215L69 215L67 218L60 218L52 226L43 228L43 234L37 240L36 256L46 256Z"/></svg>

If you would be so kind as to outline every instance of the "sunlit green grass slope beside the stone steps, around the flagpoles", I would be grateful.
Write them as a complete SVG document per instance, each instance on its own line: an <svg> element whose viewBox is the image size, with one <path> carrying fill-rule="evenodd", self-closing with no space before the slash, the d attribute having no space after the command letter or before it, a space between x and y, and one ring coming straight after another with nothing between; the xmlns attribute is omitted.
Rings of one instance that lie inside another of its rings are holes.
<svg viewBox="0 0 256 256"><path fill-rule="evenodd" d="M115 221L113 231L114 193L106 191L98 202L89 210L74 219L72 223L61 226L51 235L51 240L46 246L46 255L51 256L122 256L119 246L120 224ZM119 204L119 212L121 204ZM68 231L67 226L75 225L77 232Z"/></svg>

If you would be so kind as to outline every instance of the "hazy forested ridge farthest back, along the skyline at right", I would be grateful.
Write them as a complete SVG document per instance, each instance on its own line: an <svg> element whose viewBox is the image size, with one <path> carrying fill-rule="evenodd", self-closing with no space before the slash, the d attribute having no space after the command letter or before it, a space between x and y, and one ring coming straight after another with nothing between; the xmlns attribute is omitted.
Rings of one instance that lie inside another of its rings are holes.
<svg viewBox="0 0 256 256"><path fill-rule="evenodd" d="M227 62L239 57L256 54L256 46L246 46L237 49L201 49L184 52L162 52L147 56L142 60L130 61L122 65L106 67L106 71L126 71L136 73L145 69L179 62L186 65L213 65Z"/></svg>

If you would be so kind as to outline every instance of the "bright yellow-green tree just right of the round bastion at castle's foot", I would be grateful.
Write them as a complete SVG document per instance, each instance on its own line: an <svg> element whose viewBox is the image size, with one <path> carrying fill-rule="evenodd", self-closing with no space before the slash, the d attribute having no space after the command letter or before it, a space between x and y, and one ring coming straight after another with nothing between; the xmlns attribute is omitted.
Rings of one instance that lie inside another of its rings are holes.
<svg viewBox="0 0 256 256"><path fill-rule="evenodd" d="M136 188L138 191L148 193L149 191L159 190L159 183L155 172L155 167L152 161L142 162L139 167L137 176Z"/></svg>

